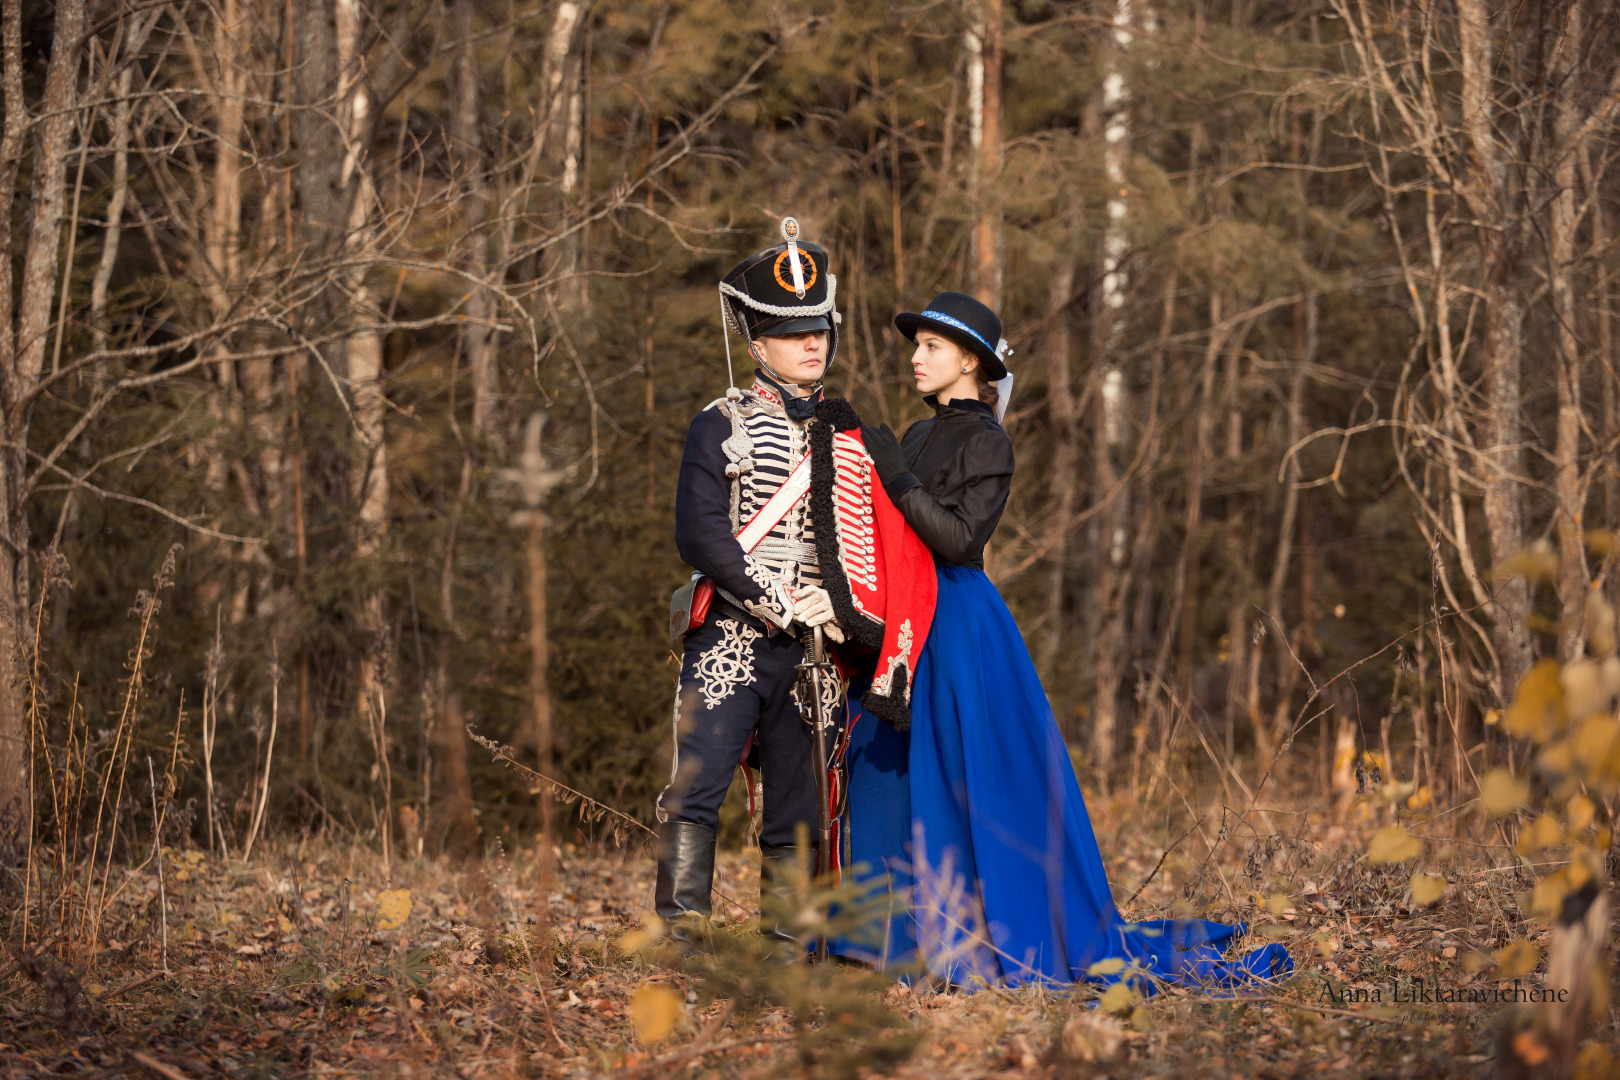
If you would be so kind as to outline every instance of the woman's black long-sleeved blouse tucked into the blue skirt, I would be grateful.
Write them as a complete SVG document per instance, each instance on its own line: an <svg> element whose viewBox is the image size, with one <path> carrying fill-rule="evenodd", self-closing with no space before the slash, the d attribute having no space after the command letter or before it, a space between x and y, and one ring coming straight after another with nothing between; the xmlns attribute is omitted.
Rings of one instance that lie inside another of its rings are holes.
<svg viewBox="0 0 1620 1080"><path fill-rule="evenodd" d="M883 489L936 563L982 570L1013 486L1013 440L977 398L923 400L933 405L933 419L917 421L901 439L910 471Z"/></svg>

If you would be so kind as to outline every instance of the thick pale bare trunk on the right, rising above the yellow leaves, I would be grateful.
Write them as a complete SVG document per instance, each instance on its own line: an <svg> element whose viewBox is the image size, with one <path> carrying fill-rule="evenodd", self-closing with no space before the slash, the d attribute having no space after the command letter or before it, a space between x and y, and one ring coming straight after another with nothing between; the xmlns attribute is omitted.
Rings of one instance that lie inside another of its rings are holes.
<svg viewBox="0 0 1620 1080"><path fill-rule="evenodd" d="M1463 60L1463 125L1473 172L1464 194L1481 222L1486 270L1486 528L1490 534L1490 559L1500 567L1524 546L1520 491L1520 348L1524 306L1516 280L1520 222L1511 167L1494 130L1497 110L1490 79L1495 49L1490 44L1490 13L1486 0L1458 0L1456 10ZM1495 609L1492 636L1502 665L1502 693L1510 696L1531 659L1529 586L1523 576L1513 575L1497 583Z"/></svg>

